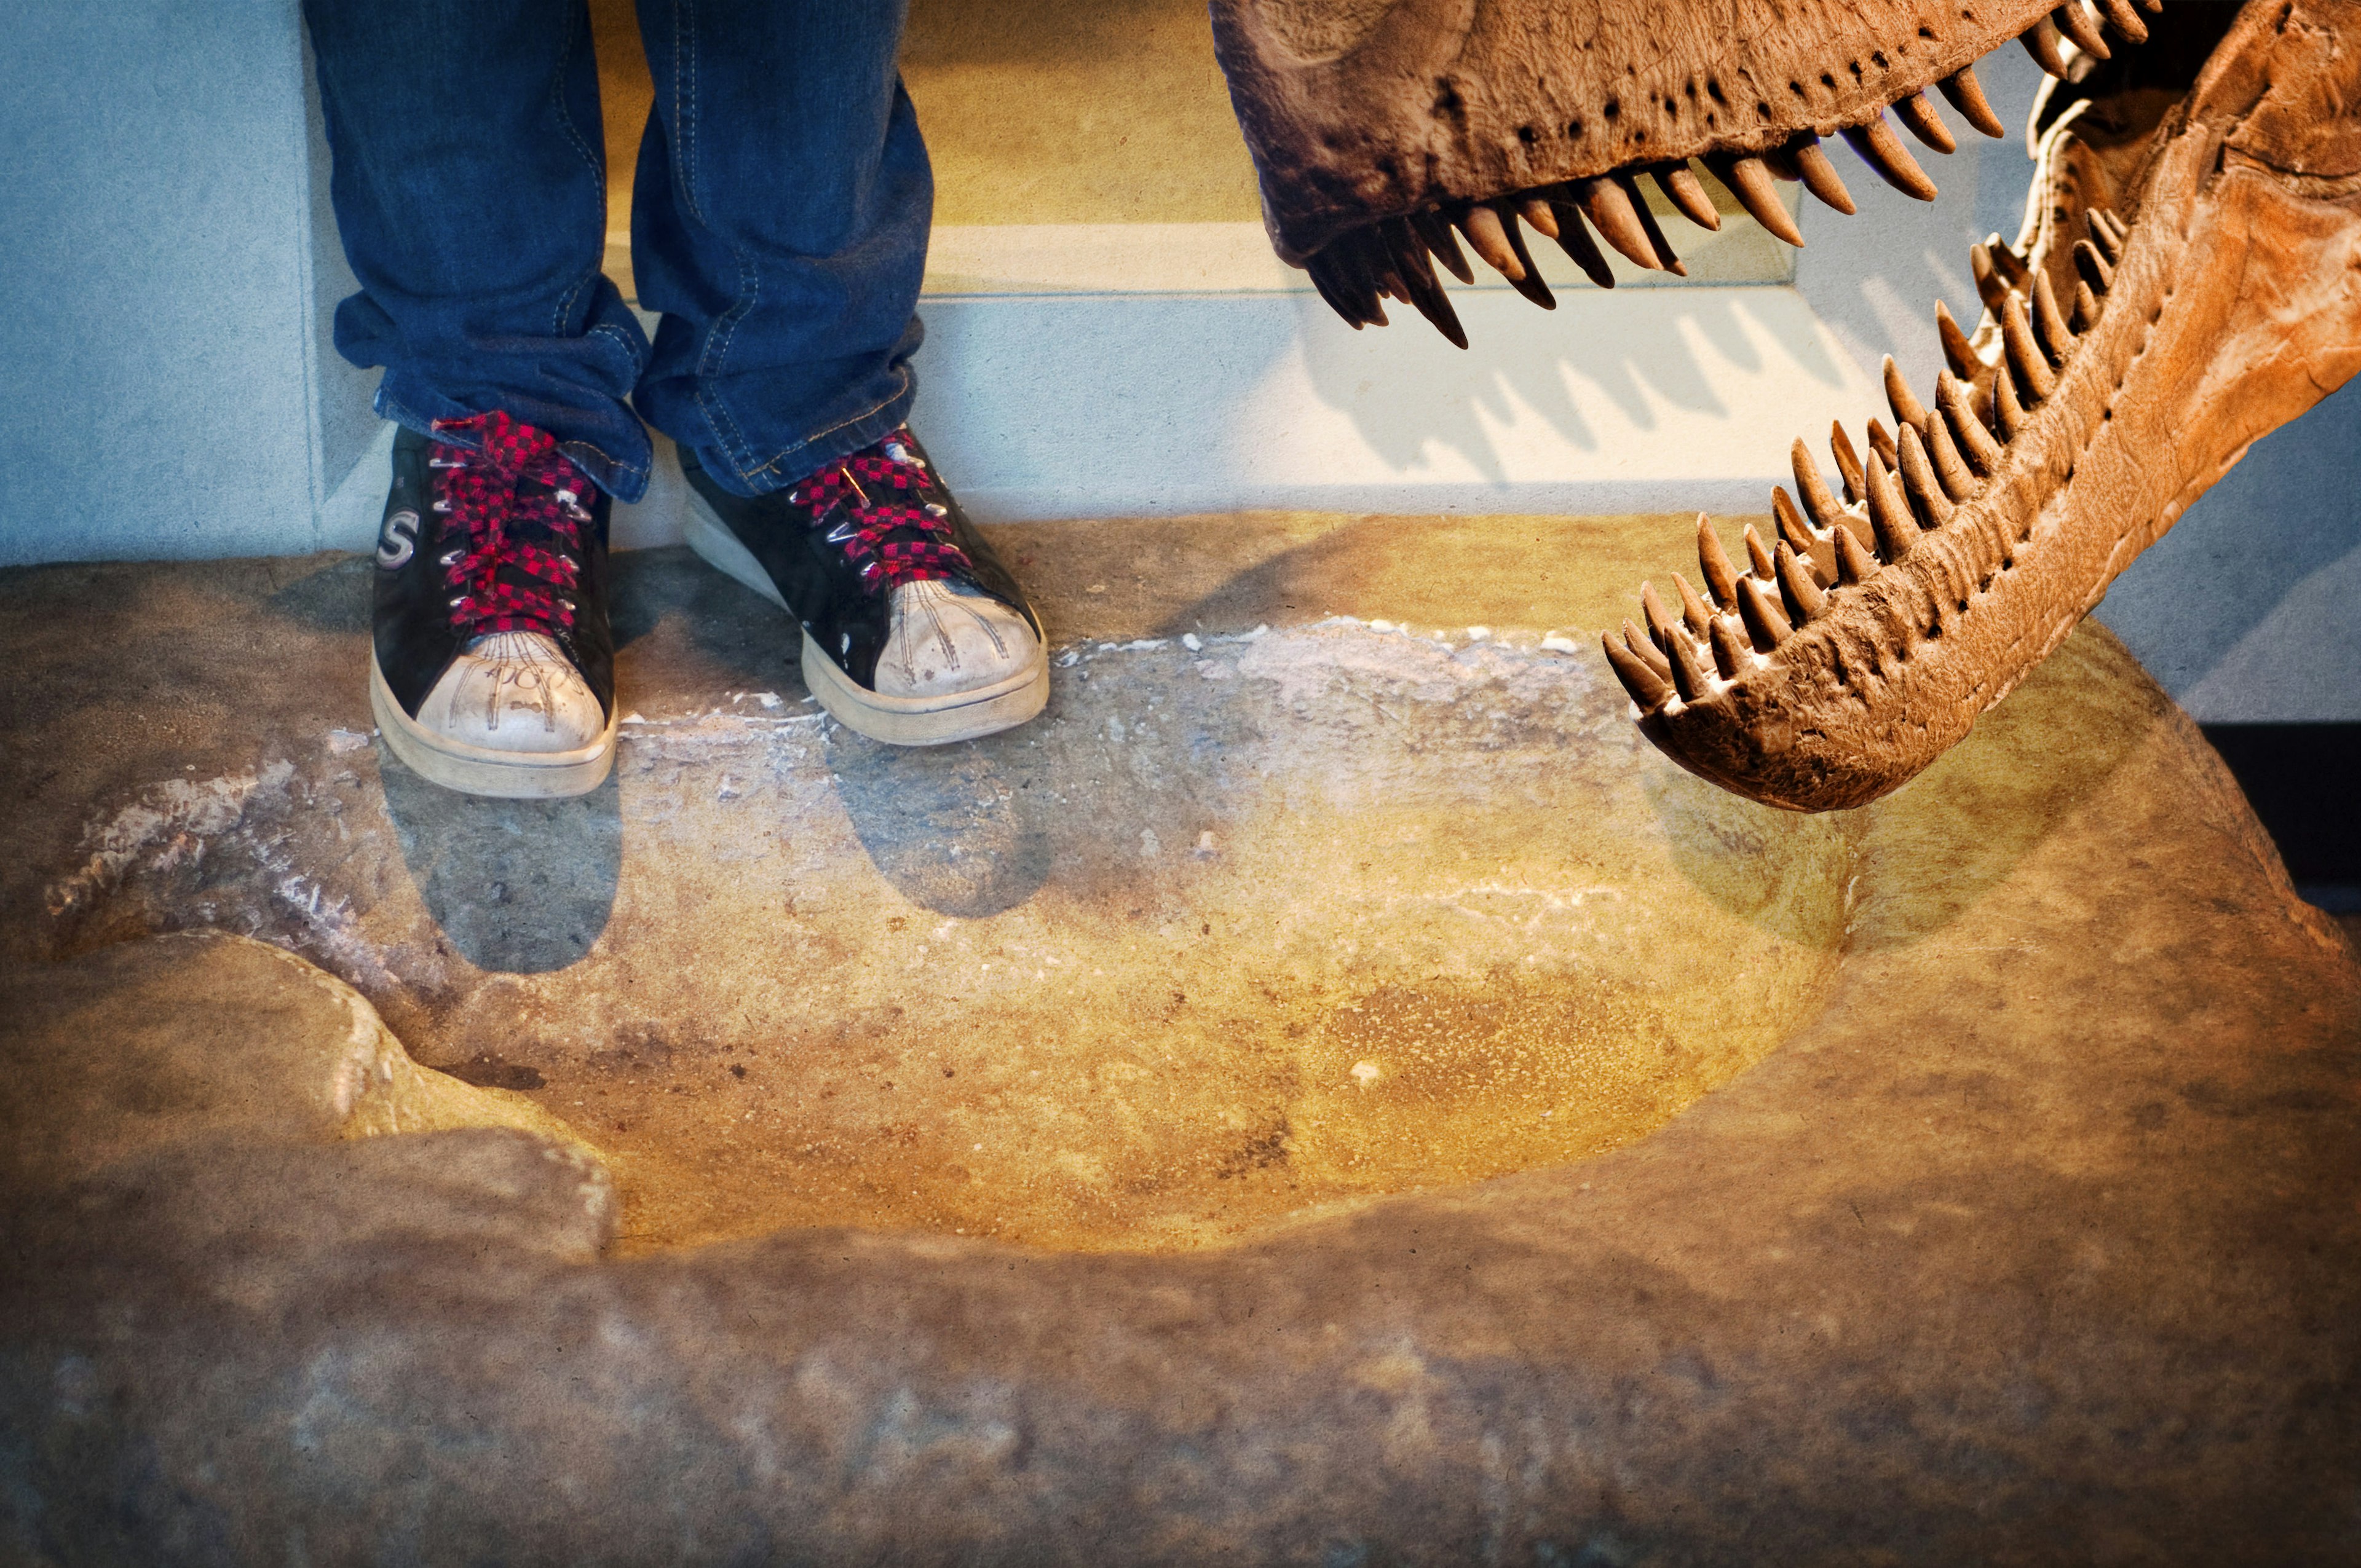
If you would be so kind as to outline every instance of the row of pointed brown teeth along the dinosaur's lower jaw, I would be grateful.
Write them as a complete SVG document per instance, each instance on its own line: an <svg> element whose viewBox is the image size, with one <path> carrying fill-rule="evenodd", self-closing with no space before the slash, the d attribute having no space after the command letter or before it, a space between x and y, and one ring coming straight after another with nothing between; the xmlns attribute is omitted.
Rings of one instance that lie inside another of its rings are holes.
<svg viewBox="0 0 2361 1568"><path fill-rule="evenodd" d="M2071 312L2059 305L2049 274L2026 267L1997 234L1974 246L1969 260L1986 302L1976 338L1962 333L1941 302L1934 307L1950 366L1936 378L1934 409L1917 399L1886 357L1886 401L1898 435L1872 418L1863 458L1844 425L1830 432L1842 503L1811 449L1797 442L1790 456L1804 501L1797 505L1785 486L1771 491L1778 543L1766 545L1747 524L1747 571L1731 564L1721 536L1700 512L1705 593L1674 574L1681 602L1672 609L1655 583L1643 583L1646 631L1627 619L1620 638L1603 638L1608 664L1641 713L1676 711L1726 692L1750 671L1771 668L1780 642L1799 626L1830 614L1846 588L1903 560L1919 534L1941 529L1960 505L1983 494L2030 411L2056 392L2075 340L2099 321L2125 241L2127 231L2111 210L2089 213L2089 239L2073 248L2078 276ZM2030 520L2021 524L2012 548L2030 527Z"/></svg>

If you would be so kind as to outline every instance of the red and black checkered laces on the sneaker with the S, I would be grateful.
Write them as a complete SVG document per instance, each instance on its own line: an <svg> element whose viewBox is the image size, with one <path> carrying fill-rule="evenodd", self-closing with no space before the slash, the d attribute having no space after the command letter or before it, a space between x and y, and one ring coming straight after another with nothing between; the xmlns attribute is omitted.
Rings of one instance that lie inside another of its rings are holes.
<svg viewBox="0 0 2361 1568"><path fill-rule="evenodd" d="M505 413L437 420L434 435L446 432L477 439L427 449L434 510L449 517L442 567L453 588L451 623L470 633L571 628L590 482L557 451L557 437Z"/></svg>

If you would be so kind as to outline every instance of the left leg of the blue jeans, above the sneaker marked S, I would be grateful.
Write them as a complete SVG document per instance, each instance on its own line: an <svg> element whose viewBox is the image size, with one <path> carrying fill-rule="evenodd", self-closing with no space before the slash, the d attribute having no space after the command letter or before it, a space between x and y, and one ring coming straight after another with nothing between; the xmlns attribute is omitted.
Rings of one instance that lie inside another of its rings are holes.
<svg viewBox="0 0 2361 1568"><path fill-rule="evenodd" d="M335 347L411 430L505 411L647 491L647 335L600 274L607 172L583 0L305 0L361 293Z"/></svg>

